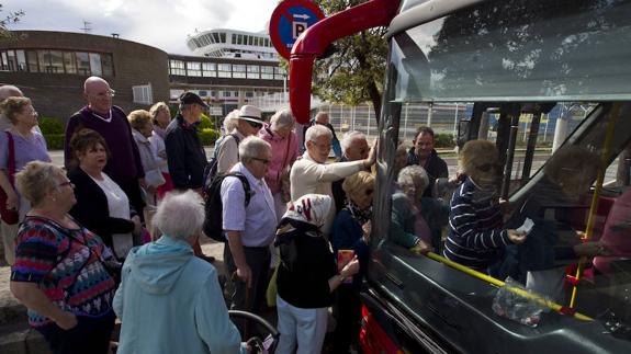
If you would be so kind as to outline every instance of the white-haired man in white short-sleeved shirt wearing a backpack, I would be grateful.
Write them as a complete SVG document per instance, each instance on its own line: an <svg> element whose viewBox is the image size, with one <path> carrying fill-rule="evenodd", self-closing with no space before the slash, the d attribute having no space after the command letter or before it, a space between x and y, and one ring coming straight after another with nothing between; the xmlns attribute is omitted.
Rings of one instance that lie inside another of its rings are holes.
<svg viewBox="0 0 631 354"><path fill-rule="evenodd" d="M236 176L222 182L223 229L228 240L224 259L228 274L236 272L232 308L260 313L268 285L270 264L269 244L277 228L274 201L264 176L272 158L271 146L250 136L239 145L239 160L230 173L246 176L250 199L246 205L246 190ZM249 296L248 296L249 293ZM246 299L251 299L246 304Z"/></svg>

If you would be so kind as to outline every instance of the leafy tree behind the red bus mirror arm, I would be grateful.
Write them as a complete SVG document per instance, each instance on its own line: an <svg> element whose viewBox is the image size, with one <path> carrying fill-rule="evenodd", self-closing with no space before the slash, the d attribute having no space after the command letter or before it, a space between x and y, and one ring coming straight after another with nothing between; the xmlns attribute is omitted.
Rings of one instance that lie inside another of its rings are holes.
<svg viewBox="0 0 631 354"><path fill-rule="evenodd" d="M365 0L314 2L331 15ZM387 56L385 32L385 27L371 28L335 42L335 52L316 60L312 92L320 99L350 105L370 101L379 116Z"/></svg>

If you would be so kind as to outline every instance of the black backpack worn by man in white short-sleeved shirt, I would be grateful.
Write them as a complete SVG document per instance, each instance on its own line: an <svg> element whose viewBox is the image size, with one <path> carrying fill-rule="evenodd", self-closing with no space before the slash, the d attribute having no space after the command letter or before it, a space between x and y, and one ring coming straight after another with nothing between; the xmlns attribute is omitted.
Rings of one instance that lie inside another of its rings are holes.
<svg viewBox="0 0 631 354"><path fill-rule="evenodd" d="M246 207L250 203L251 191L248 179L240 172L222 173L212 179L211 184L204 189L204 233L213 240L226 242L223 225L224 206L222 204L222 182L227 176L236 176L241 181L246 192Z"/></svg>

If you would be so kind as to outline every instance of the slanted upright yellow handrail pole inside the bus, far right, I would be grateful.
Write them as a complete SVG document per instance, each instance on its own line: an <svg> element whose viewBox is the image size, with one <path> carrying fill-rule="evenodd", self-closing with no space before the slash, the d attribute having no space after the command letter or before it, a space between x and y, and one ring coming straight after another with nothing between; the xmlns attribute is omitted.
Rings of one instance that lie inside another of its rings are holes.
<svg viewBox="0 0 631 354"><path fill-rule="evenodd" d="M591 238L591 232L594 231L594 222L596 220L596 212L598 210L598 201L600 198L600 192L602 191L602 182L605 181L605 172L607 171L607 162L609 162L609 155L611 153L611 140L613 140L613 134L616 133L616 123L618 122L618 116L620 115L620 103L613 103L611 109L611 114L609 115L609 123L607 124L607 133L605 134L605 146L602 153L600 155L600 168L598 169L598 179L596 180L596 189L594 190L594 196L591 197L591 205L589 207L589 216L587 217L587 225L585 226L584 241L588 241ZM576 292L578 288L578 281L581 281L581 275L583 274L583 269L585 267L586 258L582 256L578 260L578 267L576 269L575 283L572 286L572 297L570 298L570 308L574 308L576 302Z"/></svg>

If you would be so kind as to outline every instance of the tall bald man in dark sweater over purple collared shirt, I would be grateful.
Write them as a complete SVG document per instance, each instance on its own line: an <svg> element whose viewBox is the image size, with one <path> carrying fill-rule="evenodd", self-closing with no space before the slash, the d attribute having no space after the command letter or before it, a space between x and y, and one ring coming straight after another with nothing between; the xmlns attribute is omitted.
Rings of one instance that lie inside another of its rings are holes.
<svg viewBox="0 0 631 354"><path fill-rule="evenodd" d="M142 217L145 202L140 194L140 185L145 184L145 171L127 115L121 107L112 105L114 90L110 89L108 81L99 77L86 80L83 94L88 105L75 113L66 126L64 144L66 169L72 170L78 163L70 148L72 135L82 128L97 130L103 136L110 149L110 159L103 172L121 186L129 198L129 204Z"/></svg>

